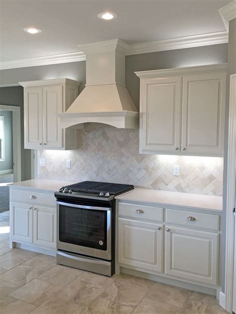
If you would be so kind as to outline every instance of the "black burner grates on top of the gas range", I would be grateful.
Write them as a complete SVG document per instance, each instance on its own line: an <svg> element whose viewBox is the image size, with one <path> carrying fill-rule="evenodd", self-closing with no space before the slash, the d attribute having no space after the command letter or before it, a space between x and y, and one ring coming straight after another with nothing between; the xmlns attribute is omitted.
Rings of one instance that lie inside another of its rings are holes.
<svg viewBox="0 0 236 314"><path fill-rule="evenodd" d="M94 181L83 181L80 183L75 183L69 186L66 186L68 190L73 192L82 192L82 193L100 193L109 192L110 195L118 195L130 190L133 190L133 185L128 184L118 184L118 183L106 183L106 182L94 182Z"/></svg>

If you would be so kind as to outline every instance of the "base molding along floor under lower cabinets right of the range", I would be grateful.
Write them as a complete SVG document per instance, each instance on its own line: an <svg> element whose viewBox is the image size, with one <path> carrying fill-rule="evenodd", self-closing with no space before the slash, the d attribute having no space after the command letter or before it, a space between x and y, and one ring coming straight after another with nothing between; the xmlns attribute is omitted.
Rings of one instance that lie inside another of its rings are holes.
<svg viewBox="0 0 236 314"><path fill-rule="evenodd" d="M183 289L189 289L189 290L205 293L208 295L216 296L217 299L219 299L219 293L220 293L221 287L216 287L216 288L203 287L196 284L191 284L191 283L183 282L180 280L175 280L175 279L170 279L170 278L166 278L166 277L162 277L162 276L158 276L154 274L149 274L149 273L145 273L139 270L134 270L134 269L126 268L126 267L120 267L119 271L120 273L123 273L123 274L137 276L144 279L157 281L162 284L167 284L167 285L171 285L175 287L180 287Z"/></svg>

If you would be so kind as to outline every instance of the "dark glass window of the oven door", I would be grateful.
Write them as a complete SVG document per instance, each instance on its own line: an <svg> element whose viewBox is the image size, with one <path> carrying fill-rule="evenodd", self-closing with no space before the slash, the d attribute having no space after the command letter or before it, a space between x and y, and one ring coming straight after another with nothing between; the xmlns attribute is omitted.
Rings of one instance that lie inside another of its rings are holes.
<svg viewBox="0 0 236 314"><path fill-rule="evenodd" d="M60 205L59 240L106 251L107 210Z"/></svg>

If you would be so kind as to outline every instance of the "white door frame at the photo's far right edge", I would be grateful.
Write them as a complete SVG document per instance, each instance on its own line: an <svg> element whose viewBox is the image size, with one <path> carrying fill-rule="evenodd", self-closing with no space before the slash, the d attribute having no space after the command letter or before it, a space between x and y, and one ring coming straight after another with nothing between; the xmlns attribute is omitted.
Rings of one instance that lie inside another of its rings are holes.
<svg viewBox="0 0 236 314"><path fill-rule="evenodd" d="M235 188L236 188L236 74L230 76L230 111L228 137L227 206L226 206L226 272L225 310L233 310L234 245L235 245Z"/></svg>

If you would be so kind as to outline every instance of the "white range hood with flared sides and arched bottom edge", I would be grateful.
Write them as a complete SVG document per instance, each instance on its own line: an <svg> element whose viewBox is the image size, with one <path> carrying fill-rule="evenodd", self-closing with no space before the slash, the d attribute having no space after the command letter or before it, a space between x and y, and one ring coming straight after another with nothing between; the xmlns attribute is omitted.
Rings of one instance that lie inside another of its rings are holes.
<svg viewBox="0 0 236 314"><path fill-rule="evenodd" d="M139 113L125 87L125 43L120 39L78 45L86 54L86 87L65 113L60 127L100 122L138 128Z"/></svg>

